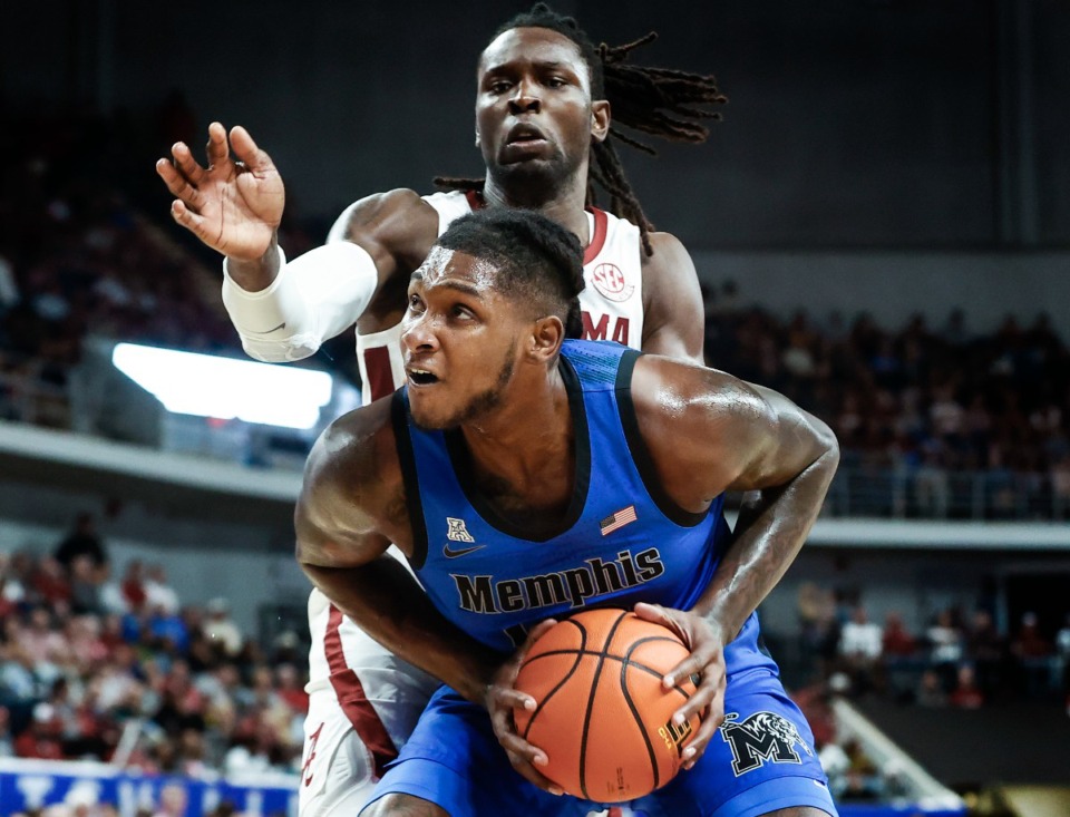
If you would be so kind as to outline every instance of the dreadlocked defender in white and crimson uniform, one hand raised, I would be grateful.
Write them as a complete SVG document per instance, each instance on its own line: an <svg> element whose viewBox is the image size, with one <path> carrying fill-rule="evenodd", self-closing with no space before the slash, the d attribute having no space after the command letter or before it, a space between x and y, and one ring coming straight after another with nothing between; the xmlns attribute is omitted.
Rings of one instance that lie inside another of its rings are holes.
<svg viewBox="0 0 1070 817"><path fill-rule="evenodd" d="M226 256L223 299L246 352L298 360L357 324L366 400L400 382L397 339L410 274L454 218L473 207L543 212L587 247L585 337L701 362L703 310L694 265L669 233L653 232L606 138L611 105L624 124L667 139L702 142L699 116L723 101L712 77L624 65L575 21L542 3L503 26L477 72L476 136L485 179L445 181L466 192L408 189L351 205L322 247L286 263L278 245L284 188L249 133L208 128L208 166L186 145L157 172L176 196L174 218ZM641 87L640 93L635 89ZM625 144L634 144L625 140ZM234 158L231 156L233 149ZM235 161L239 159L239 161ZM616 215L592 205L593 181ZM364 635L318 593L301 817L356 814L396 756L435 680Z"/></svg>

